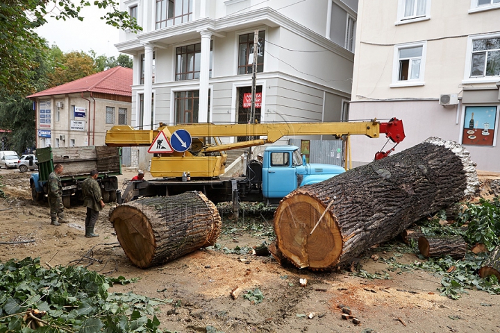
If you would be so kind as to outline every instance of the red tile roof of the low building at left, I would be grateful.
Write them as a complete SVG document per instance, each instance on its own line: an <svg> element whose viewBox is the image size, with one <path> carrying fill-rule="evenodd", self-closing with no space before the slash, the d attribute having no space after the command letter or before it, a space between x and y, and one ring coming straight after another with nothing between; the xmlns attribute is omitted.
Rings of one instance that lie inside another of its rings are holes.
<svg viewBox="0 0 500 333"><path fill-rule="evenodd" d="M133 69L131 68L117 66L64 85L37 92L27 98L72 94L75 92L101 92L103 94L132 96L132 73Z"/></svg>

